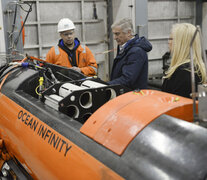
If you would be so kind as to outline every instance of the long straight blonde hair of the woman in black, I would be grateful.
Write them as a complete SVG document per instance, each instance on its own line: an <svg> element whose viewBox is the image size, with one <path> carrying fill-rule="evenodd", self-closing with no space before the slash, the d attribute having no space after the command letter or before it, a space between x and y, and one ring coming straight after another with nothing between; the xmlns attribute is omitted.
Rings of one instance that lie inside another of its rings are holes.
<svg viewBox="0 0 207 180"><path fill-rule="evenodd" d="M175 24L172 28L172 49L171 64L164 78L170 78L175 70L182 64L190 62L190 43L196 27L189 23ZM201 83L206 82L206 69L202 60L200 35L197 34L193 42L193 60L195 72L201 79ZM189 69L190 70L190 69Z"/></svg>

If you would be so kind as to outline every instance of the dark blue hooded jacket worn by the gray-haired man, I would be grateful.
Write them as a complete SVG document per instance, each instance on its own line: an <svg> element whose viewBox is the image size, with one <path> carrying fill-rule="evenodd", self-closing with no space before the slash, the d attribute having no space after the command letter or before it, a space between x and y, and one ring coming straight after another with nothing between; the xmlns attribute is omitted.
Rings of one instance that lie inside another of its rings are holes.
<svg viewBox="0 0 207 180"><path fill-rule="evenodd" d="M152 45L144 37L129 40L122 52L117 48L114 59L111 81L109 84L121 84L132 90L146 89L148 80L148 57Z"/></svg>

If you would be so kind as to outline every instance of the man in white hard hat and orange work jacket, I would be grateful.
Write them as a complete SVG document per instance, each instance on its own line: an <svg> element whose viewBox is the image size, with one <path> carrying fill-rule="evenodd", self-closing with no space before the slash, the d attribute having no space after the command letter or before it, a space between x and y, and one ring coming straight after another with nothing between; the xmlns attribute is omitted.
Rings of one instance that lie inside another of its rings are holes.
<svg viewBox="0 0 207 180"><path fill-rule="evenodd" d="M53 46L46 56L46 62L60 66L70 67L86 76L94 76L97 73L96 60L91 50L80 44L75 37L75 25L63 18L58 23L58 32L61 39L57 46Z"/></svg>

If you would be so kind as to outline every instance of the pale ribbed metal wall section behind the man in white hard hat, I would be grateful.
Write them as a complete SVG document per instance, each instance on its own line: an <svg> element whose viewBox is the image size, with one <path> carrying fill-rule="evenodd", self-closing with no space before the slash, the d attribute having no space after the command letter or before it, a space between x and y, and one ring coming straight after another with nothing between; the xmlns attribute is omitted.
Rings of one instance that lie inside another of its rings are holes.
<svg viewBox="0 0 207 180"><path fill-rule="evenodd" d="M50 47L59 40L57 23L67 17L74 21L76 36L86 44L99 64L98 74L108 78L107 4L106 0L24 0L33 3L25 26L25 53L45 58ZM94 17L96 6L97 18ZM25 6L25 9L27 7ZM23 18L26 12L22 11Z"/></svg>

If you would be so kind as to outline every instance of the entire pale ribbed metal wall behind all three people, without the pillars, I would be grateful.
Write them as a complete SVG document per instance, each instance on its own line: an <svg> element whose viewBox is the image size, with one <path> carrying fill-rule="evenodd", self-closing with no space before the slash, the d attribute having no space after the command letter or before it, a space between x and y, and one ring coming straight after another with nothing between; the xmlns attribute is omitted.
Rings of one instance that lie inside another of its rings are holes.
<svg viewBox="0 0 207 180"><path fill-rule="evenodd" d="M99 53L108 49L106 0L24 0L24 2L33 3L33 10L25 27L25 53L44 59L50 47L58 42L59 19L68 17L75 22L77 37L94 53L99 64L99 77L103 80L108 79L108 54ZM94 2L97 19L93 16ZM134 4L135 0L114 0L114 21L122 17L133 18ZM26 13L22 11L22 15L25 17ZM162 74L161 58L168 51L167 38L172 25L177 22L194 24L194 19L194 1L148 0L148 38L153 45L153 50L149 53L149 76Z"/></svg>

